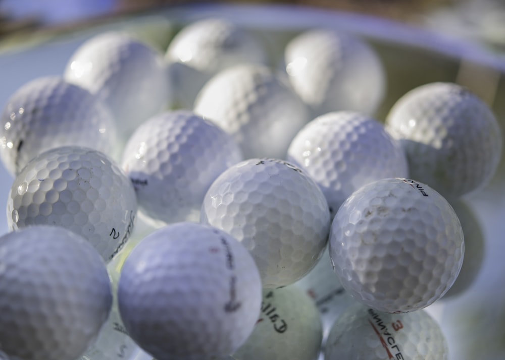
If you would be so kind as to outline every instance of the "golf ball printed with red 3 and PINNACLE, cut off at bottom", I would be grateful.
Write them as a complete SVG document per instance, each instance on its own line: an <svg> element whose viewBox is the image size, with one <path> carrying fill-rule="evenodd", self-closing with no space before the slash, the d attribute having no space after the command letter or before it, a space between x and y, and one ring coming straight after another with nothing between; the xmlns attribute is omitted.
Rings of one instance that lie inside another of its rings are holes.
<svg viewBox="0 0 505 360"><path fill-rule="evenodd" d="M424 310L386 314L352 306L333 325L325 360L447 360L440 326Z"/></svg>

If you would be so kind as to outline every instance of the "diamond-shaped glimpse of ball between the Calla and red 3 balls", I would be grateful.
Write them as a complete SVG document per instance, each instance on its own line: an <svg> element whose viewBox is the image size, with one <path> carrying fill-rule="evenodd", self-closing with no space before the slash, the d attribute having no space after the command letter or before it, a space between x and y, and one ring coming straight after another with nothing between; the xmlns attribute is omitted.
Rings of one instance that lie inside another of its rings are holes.
<svg viewBox="0 0 505 360"><path fill-rule="evenodd" d="M314 269L293 285L303 289L316 304L323 322L324 346L335 320L350 305L356 303L335 275L327 249Z"/></svg>

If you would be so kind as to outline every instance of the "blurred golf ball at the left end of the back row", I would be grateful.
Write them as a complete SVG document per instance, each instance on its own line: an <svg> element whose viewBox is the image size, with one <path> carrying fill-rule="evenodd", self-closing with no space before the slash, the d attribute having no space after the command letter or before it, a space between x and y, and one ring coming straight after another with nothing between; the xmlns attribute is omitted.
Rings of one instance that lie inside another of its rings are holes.
<svg viewBox="0 0 505 360"><path fill-rule="evenodd" d="M120 32L84 42L69 59L64 77L109 105L122 142L170 101L163 56Z"/></svg>

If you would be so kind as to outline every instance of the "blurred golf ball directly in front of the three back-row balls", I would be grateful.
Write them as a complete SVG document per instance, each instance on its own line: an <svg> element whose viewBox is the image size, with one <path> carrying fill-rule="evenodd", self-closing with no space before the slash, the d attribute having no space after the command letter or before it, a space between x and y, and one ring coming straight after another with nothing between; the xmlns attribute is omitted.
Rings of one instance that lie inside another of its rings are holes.
<svg viewBox="0 0 505 360"><path fill-rule="evenodd" d="M291 140L309 122L301 100L260 65L218 73L198 93L194 111L231 134L246 159L284 159Z"/></svg>

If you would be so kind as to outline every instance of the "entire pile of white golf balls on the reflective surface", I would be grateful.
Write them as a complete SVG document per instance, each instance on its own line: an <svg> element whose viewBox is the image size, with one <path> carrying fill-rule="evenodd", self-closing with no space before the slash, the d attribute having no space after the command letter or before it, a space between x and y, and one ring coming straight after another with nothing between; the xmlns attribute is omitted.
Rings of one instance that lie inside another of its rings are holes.
<svg viewBox="0 0 505 360"><path fill-rule="evenodd" d="M168 49L108 32L12 95L0 358L447 358L423 308L480 268L449 292L464 231L482 252L458 199L498 165L492 111L434 83L384 126L373 47L286 42L279 72L222 19Z"/></svg>

